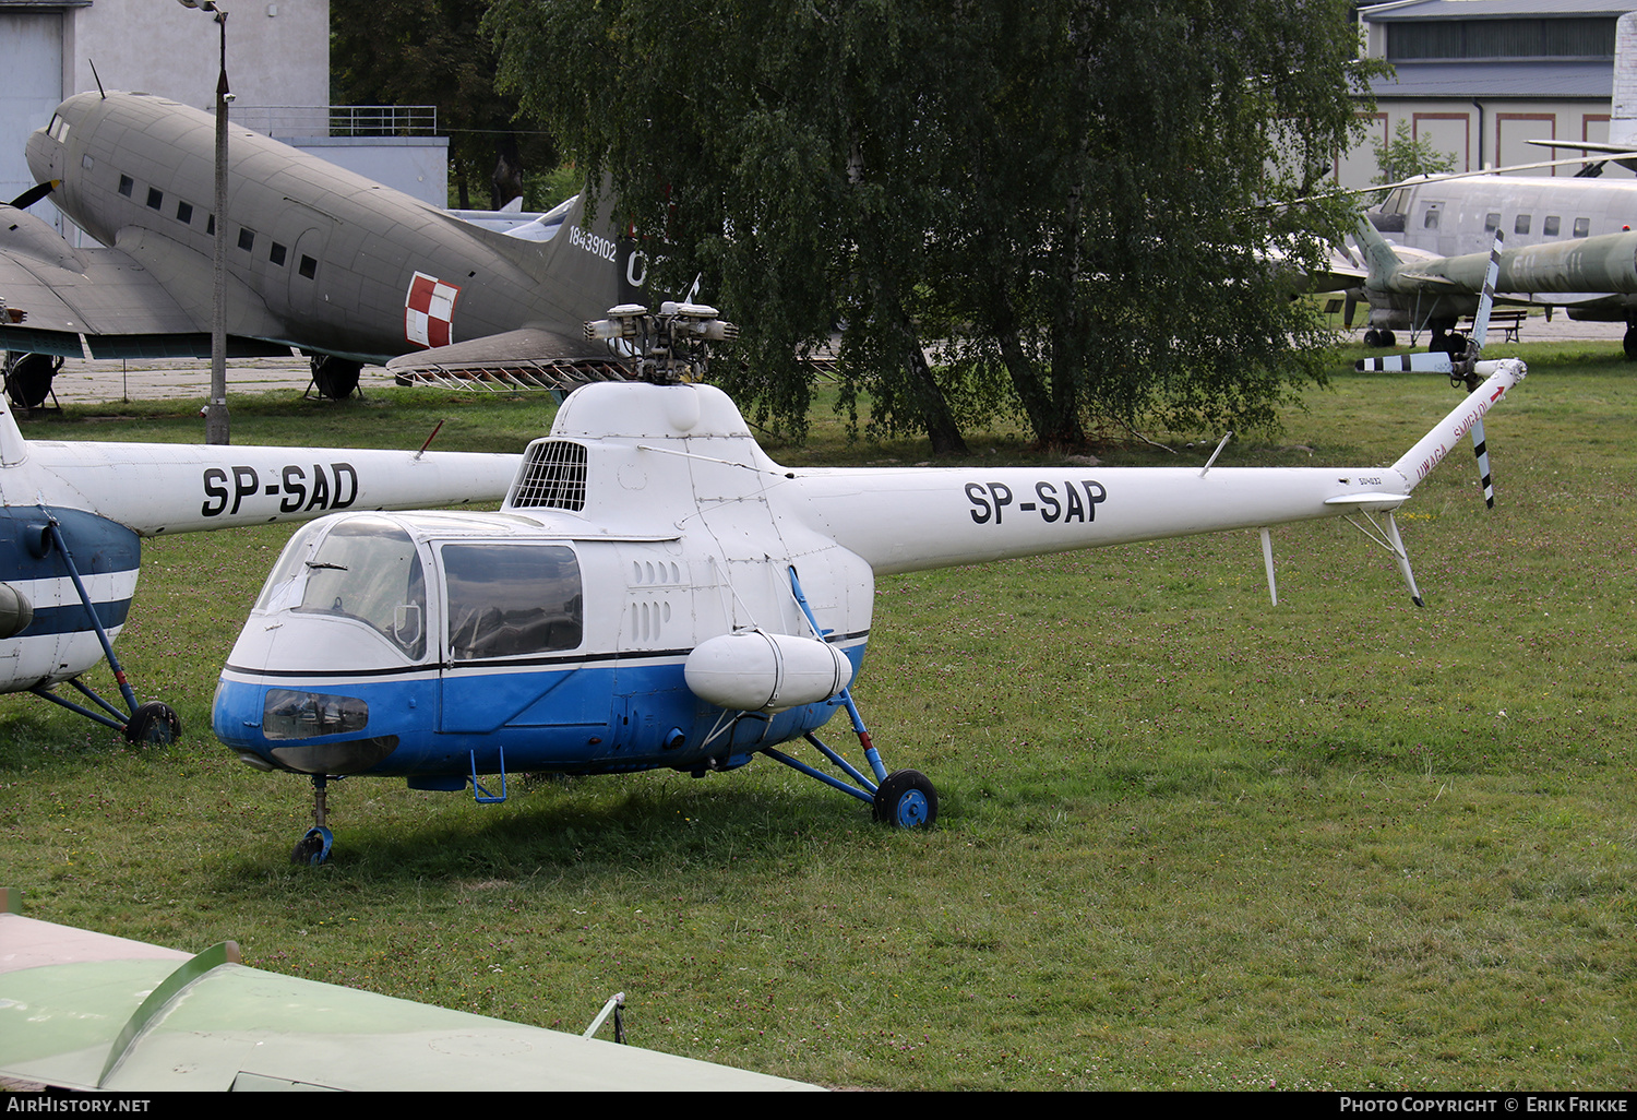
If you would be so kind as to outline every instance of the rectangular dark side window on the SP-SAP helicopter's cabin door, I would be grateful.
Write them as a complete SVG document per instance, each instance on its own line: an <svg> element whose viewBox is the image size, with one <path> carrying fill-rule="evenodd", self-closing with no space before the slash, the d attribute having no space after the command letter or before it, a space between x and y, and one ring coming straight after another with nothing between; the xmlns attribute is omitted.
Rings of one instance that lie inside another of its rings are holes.
<svg viewBox="0 0 1637 1120"><path fill-rule="evenodd" d="M584 603L568 545L445 544L449 655L525 657L579 645Z"/></svg>

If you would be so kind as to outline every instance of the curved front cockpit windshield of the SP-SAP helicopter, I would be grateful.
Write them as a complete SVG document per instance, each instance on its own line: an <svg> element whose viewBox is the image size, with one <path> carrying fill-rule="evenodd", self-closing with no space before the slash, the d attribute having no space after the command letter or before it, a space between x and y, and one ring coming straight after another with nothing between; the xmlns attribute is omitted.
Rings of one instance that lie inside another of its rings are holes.
<svg viewBox="0 0 1637 1120"><path fill-rule="evenodd" d="M293 567L296 545L298 540L291 540L280 571ZM357 619L411 658L426 653L426 573L414 540L396 524L349 517L329 531L318 550L298 558L306 565L306 586L296 611ZM268 591L272 583L268 580Z"/></svg>

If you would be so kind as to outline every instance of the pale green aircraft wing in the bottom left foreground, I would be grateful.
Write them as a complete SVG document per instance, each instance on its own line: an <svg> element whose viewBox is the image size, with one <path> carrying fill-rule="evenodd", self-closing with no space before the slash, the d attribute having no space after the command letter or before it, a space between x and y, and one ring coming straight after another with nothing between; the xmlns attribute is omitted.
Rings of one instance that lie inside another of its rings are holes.
<svg viewBox="0 0 1637 1120"><path fill-rule="evenodd" d="M39 922L0 887L0 1076L110 1092L815 1089Z"/></svg>

